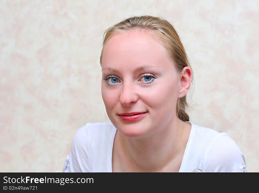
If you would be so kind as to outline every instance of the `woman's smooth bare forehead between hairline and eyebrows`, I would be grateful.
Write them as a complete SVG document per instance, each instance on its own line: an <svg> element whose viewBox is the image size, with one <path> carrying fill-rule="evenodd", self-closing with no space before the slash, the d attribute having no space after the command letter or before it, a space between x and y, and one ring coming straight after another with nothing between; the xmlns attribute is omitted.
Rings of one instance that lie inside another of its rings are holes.
<svg viewBox="0 0 259 193"><path fill-rule="evenodd" d="M120 32L104 46L102 68L131 70L143 65L172 67L168 51L154 33L140 30Z"/></svg>

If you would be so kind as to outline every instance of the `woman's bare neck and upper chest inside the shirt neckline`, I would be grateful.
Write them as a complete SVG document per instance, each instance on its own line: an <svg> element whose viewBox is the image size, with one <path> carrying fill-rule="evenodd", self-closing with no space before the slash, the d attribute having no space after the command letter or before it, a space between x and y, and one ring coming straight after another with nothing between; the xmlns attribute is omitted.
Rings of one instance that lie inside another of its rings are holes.
<svg viewBox="0 0 259 193"><path fill-rule="evenodd" d="M128 158L129 165L141 172L164 171L184 153L187 143L183 136L185 124L175 117L144 138L127 138L120 134L124 156Z"/></svg>

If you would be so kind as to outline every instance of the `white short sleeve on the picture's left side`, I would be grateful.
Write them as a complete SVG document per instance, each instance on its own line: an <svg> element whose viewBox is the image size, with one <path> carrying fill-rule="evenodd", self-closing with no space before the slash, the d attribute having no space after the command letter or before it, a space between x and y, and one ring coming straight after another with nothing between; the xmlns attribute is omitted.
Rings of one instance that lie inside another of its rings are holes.
<svg viewBox="0 0 259 193"><path fill-rule="evenodd" d="M75 133L63 172L90 172L89 137L87 134L87 124Z"/></svg>

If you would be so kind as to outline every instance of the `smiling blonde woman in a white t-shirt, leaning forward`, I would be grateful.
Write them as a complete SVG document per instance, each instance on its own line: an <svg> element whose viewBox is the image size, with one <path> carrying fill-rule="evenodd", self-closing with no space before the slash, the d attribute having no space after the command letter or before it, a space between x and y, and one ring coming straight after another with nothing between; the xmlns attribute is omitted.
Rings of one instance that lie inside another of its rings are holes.
<svg viewBox="0 0 259 193"><path fill-rule="evenodd" d="M246 172L225 132L189 121L192 70L168 21L131 17L108 28L100 64L111 122L77 130L63 172Z"/></svg>

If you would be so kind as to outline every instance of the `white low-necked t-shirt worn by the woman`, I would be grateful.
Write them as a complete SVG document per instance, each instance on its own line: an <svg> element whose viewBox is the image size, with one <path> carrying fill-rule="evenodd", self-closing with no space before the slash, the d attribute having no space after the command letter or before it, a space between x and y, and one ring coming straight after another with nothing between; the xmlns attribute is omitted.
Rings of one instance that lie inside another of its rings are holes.
<svg viewBox="0 0 259 193"><path fill-rule="evenodd" d="M227 133L191 124L179 172L247 172L245 157ZM89 122L75 133L63 172L112 172L116 128Z"/></svg>

